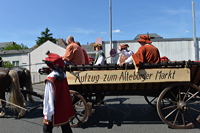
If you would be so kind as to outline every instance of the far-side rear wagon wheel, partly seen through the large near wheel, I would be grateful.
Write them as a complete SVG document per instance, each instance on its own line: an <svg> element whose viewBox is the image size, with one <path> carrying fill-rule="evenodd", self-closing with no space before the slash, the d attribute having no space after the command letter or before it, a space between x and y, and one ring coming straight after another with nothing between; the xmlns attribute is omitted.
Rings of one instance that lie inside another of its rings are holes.
<svg viewBox="0 0 200 133"><path fill-rule="evenodd" d="M153 96L144 96L144 99L146 100L146 102L156 108L156 104L157 104L157 101L158 101L158 97L153 97ZM166 107L166 106L169 106L171 104L171 102L165 100L165 99L162 99L161 101L162 103L162 107Z"/></svg>

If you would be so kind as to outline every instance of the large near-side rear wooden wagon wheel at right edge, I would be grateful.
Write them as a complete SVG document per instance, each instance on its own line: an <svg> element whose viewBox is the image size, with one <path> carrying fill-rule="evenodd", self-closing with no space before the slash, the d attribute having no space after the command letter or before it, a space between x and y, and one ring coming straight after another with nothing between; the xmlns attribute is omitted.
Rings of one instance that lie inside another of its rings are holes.
<svg viewBox="0 0 200 133"><path fill-rule="evenodd" d="M192 83L177 83L164 89L157 102L161 120L172 128L186 129L200 122L200 88ZM162 107L165 99L172 103Z"/></svg>

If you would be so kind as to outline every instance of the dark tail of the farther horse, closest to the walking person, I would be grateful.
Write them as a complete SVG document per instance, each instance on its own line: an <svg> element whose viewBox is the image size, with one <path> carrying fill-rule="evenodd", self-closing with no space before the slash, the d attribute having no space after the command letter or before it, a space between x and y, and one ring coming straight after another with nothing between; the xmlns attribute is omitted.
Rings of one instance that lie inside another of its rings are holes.
<svg viewBox="0 0 200 133"><path fill-rule="evenodd" d="M33 91L32 81L31 81L31 73L28 69L25 69L24 72L26 73L26 84L25 84L26 89ZM31 103L34 103L32 95L28 94L28 99Z"/></svg>

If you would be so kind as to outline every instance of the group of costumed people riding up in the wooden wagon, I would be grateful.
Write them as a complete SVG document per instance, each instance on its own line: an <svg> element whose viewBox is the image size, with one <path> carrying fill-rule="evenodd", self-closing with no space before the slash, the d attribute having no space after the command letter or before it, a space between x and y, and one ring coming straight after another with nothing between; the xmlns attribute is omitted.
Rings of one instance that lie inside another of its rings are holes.
<svg viewBox="0 0 200 133"><path fill-rule="evenodd" d="M141 35L138 40L140 47L136 53L129 50L128 44L118 44L117 48L120 51L120 55L117 61L119 66L123 66L125 63L135 64L140 67L140 63L159 63L161 62L159 50L152 45L152 41L148 35ZM61 58L66 64L70 65L104 65L106 64L106 57L103 52L102 44L95 43L94 50L96 51L95 58L88 57L87 52L81 47L80 42L74 40L73 36L69 36L66 39L68 46L65 53Z"/></svg>

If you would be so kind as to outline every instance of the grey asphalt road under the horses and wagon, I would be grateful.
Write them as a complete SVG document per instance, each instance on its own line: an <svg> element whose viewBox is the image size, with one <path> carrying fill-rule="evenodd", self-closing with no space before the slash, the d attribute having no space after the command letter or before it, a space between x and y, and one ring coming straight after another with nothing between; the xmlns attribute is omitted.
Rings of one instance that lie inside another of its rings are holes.
<svg viewBox="0 0 200 133"><path fill-rule="evenodd" d="M35 84L34 91L44 92L44 83ZM42 104L42 100L34 97L35 103L28 109ZM193 129L171 129L164 124L155 108L149 106L142 96L108 96L106 105L97 107L92 116L74 133L199 133ZM0 106L1 109L1 106ZM16 119L16 114L7 109L5 118L0 118L0 133L41 133L42 107L27 112L23 118ZM200 126L200 125L199 125ZM61 133L55 127L54 133Z"/></svg>

